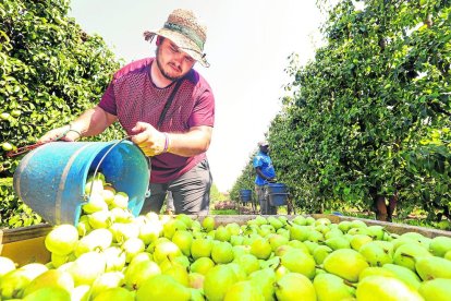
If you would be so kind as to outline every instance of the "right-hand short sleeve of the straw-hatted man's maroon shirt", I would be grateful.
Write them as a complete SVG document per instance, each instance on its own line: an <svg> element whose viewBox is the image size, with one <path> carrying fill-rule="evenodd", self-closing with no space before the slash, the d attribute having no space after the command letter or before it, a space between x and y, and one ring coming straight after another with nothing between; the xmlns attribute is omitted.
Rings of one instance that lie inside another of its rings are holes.
<svg viewBox="0 0 451 301"><path fill-rule="evenodd" d="M196 100L193 112L190 116L190 128L215 124L215 97L211 89L205 89Z"/></svg>

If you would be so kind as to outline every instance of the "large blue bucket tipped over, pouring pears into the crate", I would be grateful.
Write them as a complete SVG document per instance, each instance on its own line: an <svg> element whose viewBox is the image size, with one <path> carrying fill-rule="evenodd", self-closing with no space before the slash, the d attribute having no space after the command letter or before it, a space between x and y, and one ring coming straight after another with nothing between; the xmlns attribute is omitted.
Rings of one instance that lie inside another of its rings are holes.
<svg viewBox="0 0 451 301"><path fill-rule="evenodd" d="M139 215L150 172L146 157L130 141L52 142L39 146L21 160L14 172L14 191L47 222L77 225L88 197L87 177L97 167L117 191L129 195L132 214Z"/></svg>

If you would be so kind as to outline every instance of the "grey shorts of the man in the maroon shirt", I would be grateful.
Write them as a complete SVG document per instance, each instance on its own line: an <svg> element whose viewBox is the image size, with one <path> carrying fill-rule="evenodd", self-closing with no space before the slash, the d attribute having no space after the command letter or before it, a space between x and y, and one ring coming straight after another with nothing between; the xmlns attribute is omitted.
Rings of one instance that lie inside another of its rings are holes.
<svg viewBox="0 0 451 301"><path fill-rule="evenodd" d="M142 214L160 213L167 191L172 192L175 214L207 215L210 205L212 177L208 160L199 161L190 171L168 183L150 183L150 196L144 202Z"/></svg>

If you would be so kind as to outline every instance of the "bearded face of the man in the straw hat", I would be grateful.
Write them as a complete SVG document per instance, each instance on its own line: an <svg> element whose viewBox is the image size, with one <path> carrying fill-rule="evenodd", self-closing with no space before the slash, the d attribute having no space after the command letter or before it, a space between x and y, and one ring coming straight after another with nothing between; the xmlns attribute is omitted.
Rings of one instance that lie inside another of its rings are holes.
<svg viewBox="0 0 451 301"><path fill-rule="evenodd" d="M170 81L184 76L195 63L196 61L191 56L168 38L164 38L157 48L158 69Z"/></svg>

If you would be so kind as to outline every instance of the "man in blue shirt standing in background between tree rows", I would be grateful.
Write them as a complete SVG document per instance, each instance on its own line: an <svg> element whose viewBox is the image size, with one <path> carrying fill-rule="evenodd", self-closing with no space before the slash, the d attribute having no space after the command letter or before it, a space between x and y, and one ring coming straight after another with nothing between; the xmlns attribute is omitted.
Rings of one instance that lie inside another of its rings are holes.
<svg viewBox="0 0 451 301"><path fill-rule="evenodd" d="M255 193L260 203L261 215L277 214L277 207L271 206L268 200L267 185L276 182L276 171L269 157L269 143L261 141L258 143L259 152L254 157L253 166L257 176L255 177Z"/></svg>

